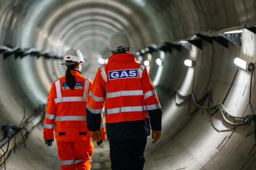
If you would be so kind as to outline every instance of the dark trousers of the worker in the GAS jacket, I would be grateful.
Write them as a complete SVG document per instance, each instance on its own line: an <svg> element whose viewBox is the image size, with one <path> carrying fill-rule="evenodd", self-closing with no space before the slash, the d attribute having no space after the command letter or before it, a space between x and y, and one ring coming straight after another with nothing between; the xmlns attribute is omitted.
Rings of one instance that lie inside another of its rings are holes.
<svg viewBox="0 0 256 170"><path fill-rule="evenodd" d="M112 170L143 170L147 138L109 141Z"/></svg>

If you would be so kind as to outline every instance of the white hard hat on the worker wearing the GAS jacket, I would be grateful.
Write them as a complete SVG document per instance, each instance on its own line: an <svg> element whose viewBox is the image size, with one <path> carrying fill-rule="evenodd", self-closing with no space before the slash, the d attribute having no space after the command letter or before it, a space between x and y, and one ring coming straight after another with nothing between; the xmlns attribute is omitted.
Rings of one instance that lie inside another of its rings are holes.
<svg viewBox="0 0 256 170"><path fill-rule="evenodd" d="M119 31L111 35L109 40L109 48L111 51L116 51L128 47L130 47L130 41L123 32Z"/></svg>

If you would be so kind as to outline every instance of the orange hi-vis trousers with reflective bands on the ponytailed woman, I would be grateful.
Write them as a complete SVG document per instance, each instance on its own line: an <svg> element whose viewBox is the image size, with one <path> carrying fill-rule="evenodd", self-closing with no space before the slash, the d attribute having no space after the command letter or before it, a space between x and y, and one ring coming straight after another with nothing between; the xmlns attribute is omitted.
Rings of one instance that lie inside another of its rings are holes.
<svg viewBox="0 0 256 170"><path fill-rule="evenodd" d="M90 170L93 145L87 141L57 141L61 170Z"/></svg>

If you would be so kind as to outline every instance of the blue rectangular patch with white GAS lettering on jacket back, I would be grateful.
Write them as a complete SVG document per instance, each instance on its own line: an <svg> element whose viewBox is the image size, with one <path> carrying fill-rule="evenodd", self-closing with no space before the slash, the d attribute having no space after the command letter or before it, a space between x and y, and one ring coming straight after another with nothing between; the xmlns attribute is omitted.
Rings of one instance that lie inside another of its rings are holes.
<svg viewBox="0 0 256 170"><path fill-rule="evenodd" d="M109 80L138 78L138 69L109 71Z"/></svg>

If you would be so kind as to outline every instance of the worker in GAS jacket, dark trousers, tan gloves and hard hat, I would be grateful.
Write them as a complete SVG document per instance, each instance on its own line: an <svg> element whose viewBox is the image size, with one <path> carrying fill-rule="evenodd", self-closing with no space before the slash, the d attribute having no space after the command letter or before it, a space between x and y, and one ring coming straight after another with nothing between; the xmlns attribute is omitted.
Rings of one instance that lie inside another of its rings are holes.
<svg viewBox="0 0 256 170"><path fill-rule="evenodd" d="M106 132L112 170L142 170L147 136L161 138L162 109L146 68L129 54L123 32L110 37L113 56L101 66L89 92L87 128L99 141L101 111L105 102Z"/></svg>

